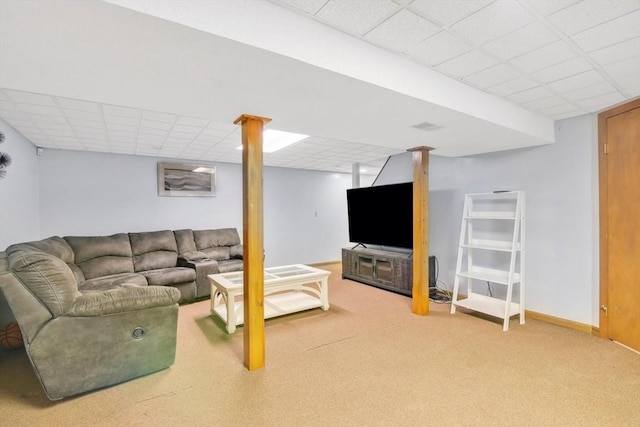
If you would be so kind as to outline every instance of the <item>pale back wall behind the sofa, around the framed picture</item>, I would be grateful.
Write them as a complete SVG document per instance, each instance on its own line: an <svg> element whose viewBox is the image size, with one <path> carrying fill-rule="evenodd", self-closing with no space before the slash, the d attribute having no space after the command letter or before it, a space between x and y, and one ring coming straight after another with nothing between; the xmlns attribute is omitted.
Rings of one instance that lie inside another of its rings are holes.
<svg viewBox="0 0 640 427"><path fill-rule="evenodd" d="M241 165L214 163L215 197L159 197L156 165L167 159L45 150L40 160L43 238L225 227L242 237ZM350 174L265 168L265 264L339 260L350 185Z"/></svg>

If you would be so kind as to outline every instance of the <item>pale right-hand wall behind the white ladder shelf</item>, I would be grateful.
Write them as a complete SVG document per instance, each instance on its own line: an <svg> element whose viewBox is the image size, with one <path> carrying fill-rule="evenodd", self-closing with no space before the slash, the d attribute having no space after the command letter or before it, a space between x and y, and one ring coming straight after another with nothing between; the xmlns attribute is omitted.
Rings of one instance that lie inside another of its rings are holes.
<svg viewBox="0 0 640 427"><path fill-rule="evenodd" d="M598 325L598 180L596 116L556 122L556 143L443 158L429 171L430 254L453 289L464 194L526 193L526 307ZM402 182L411 157L396 156L379 182ZM410 178L409 178L410 179Z"/></svg>

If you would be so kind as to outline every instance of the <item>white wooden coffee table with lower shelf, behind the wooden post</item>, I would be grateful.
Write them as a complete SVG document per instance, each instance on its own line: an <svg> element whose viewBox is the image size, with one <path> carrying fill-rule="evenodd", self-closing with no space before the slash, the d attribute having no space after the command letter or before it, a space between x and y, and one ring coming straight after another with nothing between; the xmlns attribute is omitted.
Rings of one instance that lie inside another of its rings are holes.
<svg viewBox="0 0 640 427"><path fill-rule="evenodd" d="M328 278L331 272L303 264L264 270L264 318L282 316L312 308L329 309ZM227 325L232 334L244 323L242 271L210 274L211 314Z"/></svg>

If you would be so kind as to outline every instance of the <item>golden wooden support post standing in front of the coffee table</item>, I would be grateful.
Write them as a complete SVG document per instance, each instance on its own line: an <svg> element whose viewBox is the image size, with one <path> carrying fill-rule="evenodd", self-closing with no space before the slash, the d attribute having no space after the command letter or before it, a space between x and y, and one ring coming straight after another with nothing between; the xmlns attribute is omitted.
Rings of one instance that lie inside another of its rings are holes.
<svg viewBox="0 0 640 427"><path fill-rule="evenodd" d="M233 122L242 124L244 365L250 371L265 364L262 131L270 121L243 114Z"/></svg>

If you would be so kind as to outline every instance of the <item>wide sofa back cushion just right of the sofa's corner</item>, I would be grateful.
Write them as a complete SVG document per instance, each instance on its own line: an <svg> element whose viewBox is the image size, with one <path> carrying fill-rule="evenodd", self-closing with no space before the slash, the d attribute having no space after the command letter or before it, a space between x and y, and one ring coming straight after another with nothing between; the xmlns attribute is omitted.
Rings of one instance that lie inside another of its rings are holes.
<svg viewBox="0 0 640 427"><path fill-rule="evenodd" d="M93 237L66 236L64 240L73 249L76 265L87 280L133 273L131 243L126 233Z"/></svg>

